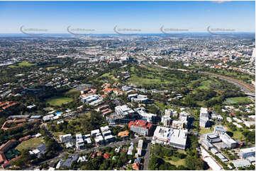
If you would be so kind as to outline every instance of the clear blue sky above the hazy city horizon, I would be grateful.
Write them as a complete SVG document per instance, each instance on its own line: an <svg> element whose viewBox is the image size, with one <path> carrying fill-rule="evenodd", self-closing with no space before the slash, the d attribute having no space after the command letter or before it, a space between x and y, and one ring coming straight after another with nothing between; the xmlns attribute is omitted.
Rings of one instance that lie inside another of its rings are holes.
<svg viewBox="0 0 256 171"><path fill-rule="evenodd" d="M21 26L45 33L68 33L67 27L84 33L115 33L115 27L119 33L160 33L161 27L206 32L208 26L255 33L255 1L0 1L0 18L0 33L21 33Z"/></svg>

